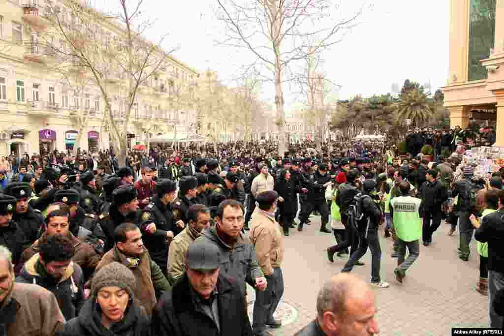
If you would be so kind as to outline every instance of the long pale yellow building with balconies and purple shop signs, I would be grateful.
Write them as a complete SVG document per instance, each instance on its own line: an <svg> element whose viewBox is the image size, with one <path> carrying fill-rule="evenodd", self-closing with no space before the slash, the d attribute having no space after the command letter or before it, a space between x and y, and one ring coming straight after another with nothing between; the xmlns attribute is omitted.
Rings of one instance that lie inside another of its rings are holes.
<svg viewBox="0 0 504 336"><path fill-rule="evenodd" d="M92 79L89 69L48 53L41 42L53 39L54 20L49 11L54 13L55 6L59 24L69 31L76 28L73 12L66 9L72 0L55 3L0 0L0 156L77 148L97 151L108 149L113 142L110 125L104 122L106 102L100 88L88 81ZM110 57L123 52L123 32L118 26L96 27L96 31L108 43ZM65 41L59 42L65 48ZM166 57L137 90L127 126L130 145L145 143L149 135L172 131L177 125L196 129L196 110L176 106L176 101L177 89L190 87L198 77L195 69ZM125 122L127 110L119 83L127 80L119 72L107 78L110 110L118 126Z"/></svg>

